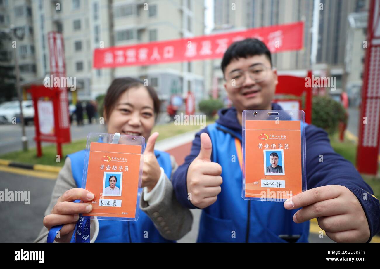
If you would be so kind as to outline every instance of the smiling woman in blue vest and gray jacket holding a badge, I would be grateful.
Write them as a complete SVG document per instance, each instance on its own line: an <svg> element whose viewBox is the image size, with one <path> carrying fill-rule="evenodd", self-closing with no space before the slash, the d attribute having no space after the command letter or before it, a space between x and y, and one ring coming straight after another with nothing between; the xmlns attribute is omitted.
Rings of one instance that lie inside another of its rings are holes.
<svg viewBox="0 0 380 269"><path fill-rule="evenodd" d="M142 167L142 212L131 225L111 220L91 220L90 242L173 242L190 231L192 214L179 205L170 181L177 163L168 153L154 150L158 133L150 133L159 111L157 93L142 81L118 78L109 86L103 112L107 132L143 136L147 141ZM57 225L63 226L60 238L54 240L70 242L79 214L91 212L94 195L79 188L82 185L84 158L85 150L67 156L45 212L45 227L36 242L46 242L48 231ZM122 177L113 172L105 174L104 178L107 180L105 192L111 193L111 196L120 195ZM84 203L73 203L77 199Z"/></svg>

